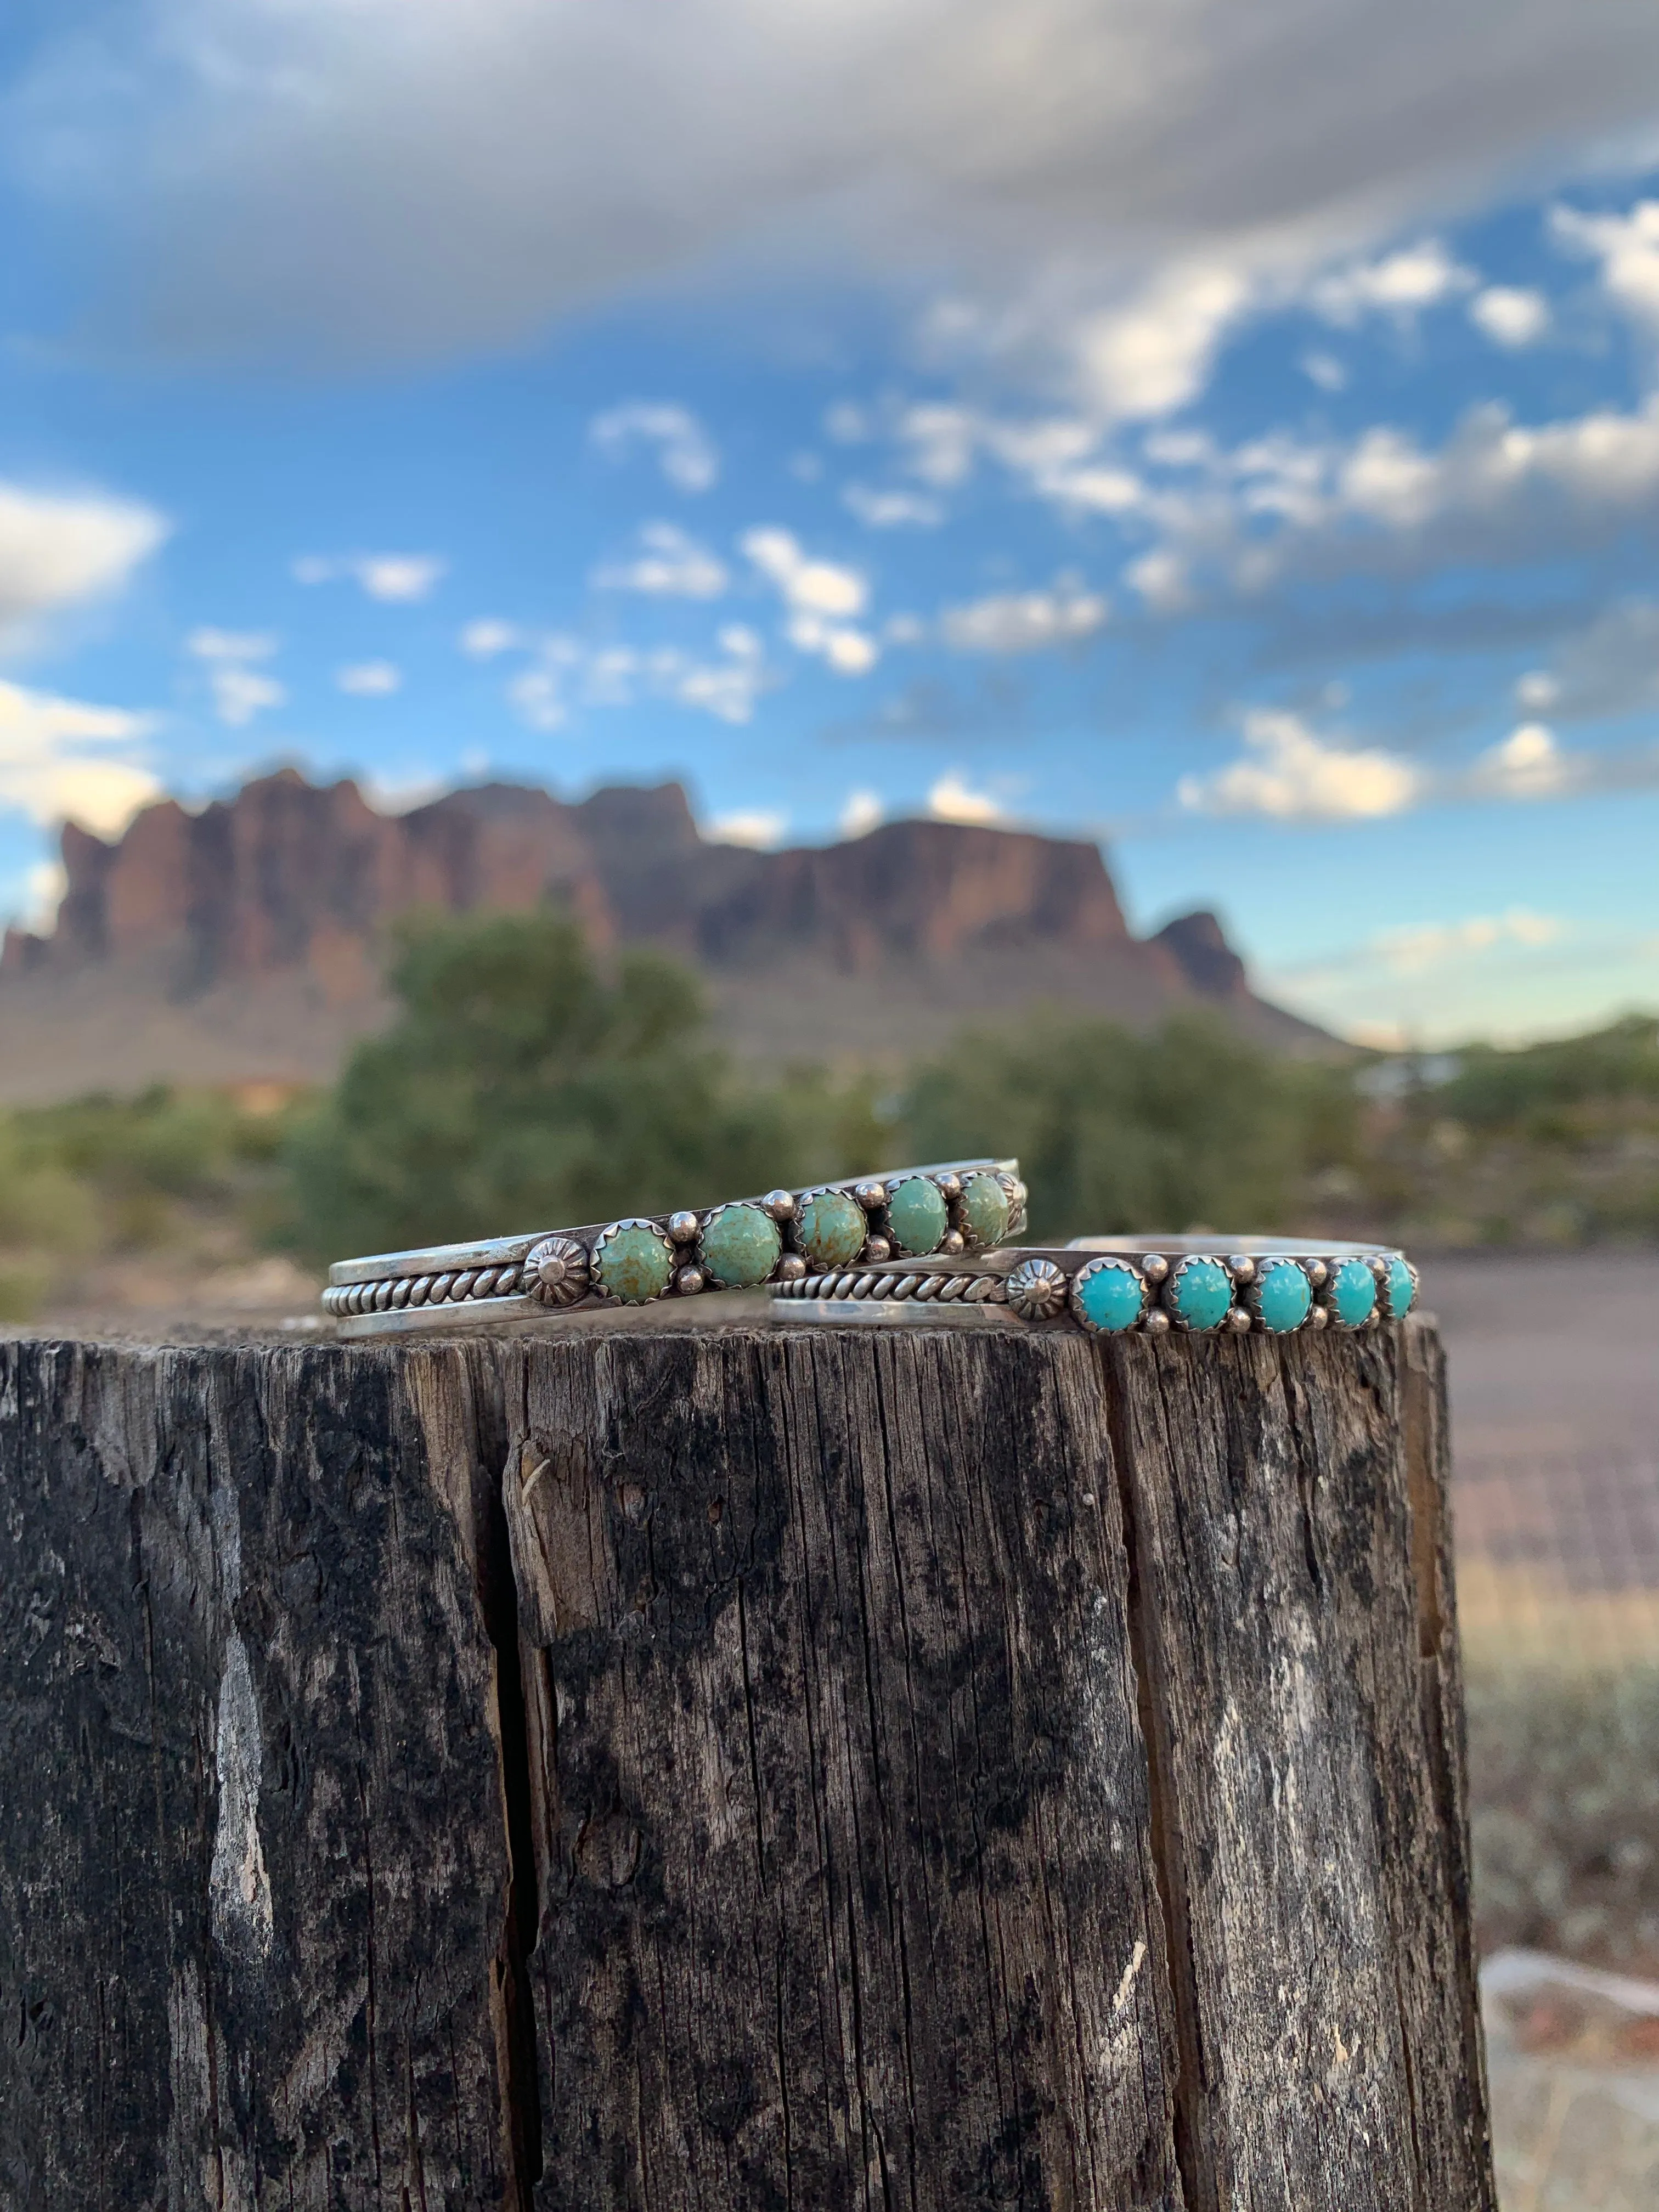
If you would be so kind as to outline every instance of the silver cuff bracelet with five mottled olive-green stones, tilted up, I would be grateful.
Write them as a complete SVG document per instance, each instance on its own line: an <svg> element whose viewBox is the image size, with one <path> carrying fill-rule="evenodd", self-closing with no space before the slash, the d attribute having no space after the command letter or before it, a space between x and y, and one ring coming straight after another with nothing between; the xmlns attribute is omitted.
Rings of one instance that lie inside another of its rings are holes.
<svg viewBox="0 0 1659 2212"><path fill-rule="evenodd" d="M1020 1234L1024 1210L1018 1159L953 1159L701 1210L343 1259L327 1272L323 1312L341 1336L387 1336L759 1290L830 1265L989 1250Z"/></svg>

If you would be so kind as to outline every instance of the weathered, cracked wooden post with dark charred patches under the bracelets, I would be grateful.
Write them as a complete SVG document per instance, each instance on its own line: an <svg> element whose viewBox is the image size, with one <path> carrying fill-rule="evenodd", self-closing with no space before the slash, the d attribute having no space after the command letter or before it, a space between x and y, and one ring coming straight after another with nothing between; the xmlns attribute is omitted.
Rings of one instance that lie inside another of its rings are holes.
<svg viewBox="0 0 1659 2212"><path fill-rule="evenodd" d="M1493 2203L1431 1325L0 1347L0 2208Z"/></svg>

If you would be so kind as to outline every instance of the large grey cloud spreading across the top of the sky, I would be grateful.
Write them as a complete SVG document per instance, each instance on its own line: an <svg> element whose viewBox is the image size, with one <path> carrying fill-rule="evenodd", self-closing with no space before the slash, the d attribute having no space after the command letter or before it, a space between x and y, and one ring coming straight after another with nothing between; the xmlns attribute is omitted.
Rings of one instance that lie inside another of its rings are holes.
<svg viewBox="0 0 1659 2212"><path fill-rule="evenodd" d="M1097 312L1177 268L1159 332L1082 316L1148 409L1241 270L1646 124L1657 69L1628 0L1517 0L1502 40L1489 0L1026 0L1018 40L1006 0L135 0L35 44L7 139L181 347L440 356L807 239L1004 296L1093 270Z"/></svg>

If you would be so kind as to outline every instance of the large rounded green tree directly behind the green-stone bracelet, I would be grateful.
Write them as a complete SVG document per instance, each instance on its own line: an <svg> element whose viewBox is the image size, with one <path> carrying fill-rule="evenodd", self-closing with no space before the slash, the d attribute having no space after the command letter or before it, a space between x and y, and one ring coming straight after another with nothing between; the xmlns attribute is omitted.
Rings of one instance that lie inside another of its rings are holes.
<svg viewBox="0 0 1659 2212"><path fill-rule="evenodd" d="M491 916L411 936L403 1013L290 1139L314 1254L604 1221L867 1159L856 1102L741 1082L695 980L655 953L602 973L573 922Z"/></svg>

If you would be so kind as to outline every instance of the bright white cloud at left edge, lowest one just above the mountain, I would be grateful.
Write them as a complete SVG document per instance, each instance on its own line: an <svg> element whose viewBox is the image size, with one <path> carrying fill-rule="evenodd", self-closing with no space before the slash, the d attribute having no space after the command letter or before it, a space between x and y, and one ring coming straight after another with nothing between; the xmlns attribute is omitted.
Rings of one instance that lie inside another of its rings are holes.
<svg viewBox="0 0 1659 2212"><path fill-rule="evenodd" d="M144 763L153 717L0 681L0 807L117 836L157 796Z"/></svg>

